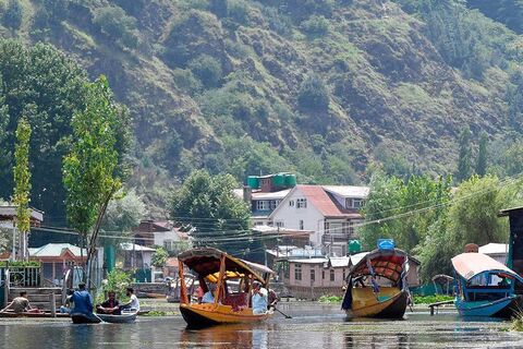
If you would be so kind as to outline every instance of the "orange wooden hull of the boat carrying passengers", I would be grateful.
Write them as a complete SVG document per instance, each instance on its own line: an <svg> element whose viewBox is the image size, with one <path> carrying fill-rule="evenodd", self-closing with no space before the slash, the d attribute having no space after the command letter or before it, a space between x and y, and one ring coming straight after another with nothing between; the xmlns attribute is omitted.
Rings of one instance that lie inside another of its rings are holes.
<svg viewBox="0 0 523 349"><path fill-rule="evenodd" d="M271 313L255 315L251 309L234 312L232 306L221 304L180 304L180 312L190 327L256 323L271 316Z"/></svg>

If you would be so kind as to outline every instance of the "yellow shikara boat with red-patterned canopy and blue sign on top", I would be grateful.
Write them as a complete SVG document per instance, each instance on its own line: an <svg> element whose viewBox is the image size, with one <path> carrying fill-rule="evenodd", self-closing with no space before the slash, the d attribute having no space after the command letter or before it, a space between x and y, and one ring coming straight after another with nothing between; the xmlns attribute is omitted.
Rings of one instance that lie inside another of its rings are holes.
<svg viewBox="0 0 523 349"><path fill-rule="evenodd" d="M349 272L342 309L349 318L402 318L409 303L409 257L389 248L366 254Z"/></svg>

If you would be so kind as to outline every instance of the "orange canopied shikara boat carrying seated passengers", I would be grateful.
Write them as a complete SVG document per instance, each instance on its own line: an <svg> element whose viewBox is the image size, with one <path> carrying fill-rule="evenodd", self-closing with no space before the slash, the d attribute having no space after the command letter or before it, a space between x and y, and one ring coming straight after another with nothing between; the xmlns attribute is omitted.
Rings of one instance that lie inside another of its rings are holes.
<svg viewBox="0 0 523 349"><path fill-rule="evenodd" d="M233 257L217 249L194 249L178 256L180 273L180 312L190 327L217 324L254 323L268 318L271 312L254 314L251 308L251 290L254 281L267 289L271 269L264 265ZM191 301L185 285L184 269L197 275L204 292L216 289L214 303ZM240 280L232 289L233 280ZM229 281L229 282L228 282Z"/></svg>

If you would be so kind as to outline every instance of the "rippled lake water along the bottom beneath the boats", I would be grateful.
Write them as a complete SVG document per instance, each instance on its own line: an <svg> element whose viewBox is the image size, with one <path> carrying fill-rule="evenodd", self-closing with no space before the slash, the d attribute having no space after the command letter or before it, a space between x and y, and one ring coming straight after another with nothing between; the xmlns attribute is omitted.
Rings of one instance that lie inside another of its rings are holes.
<svg viewBox="0 0 523 349"><path fill-rule="evenodd" d="M348 322L339 305L280 303L256 325L186 329L181 316L134 324L73 325L60 320L0 320L2 348L522 348L510 323L463 321L453 312L409 313L404 321Z"/></svg>

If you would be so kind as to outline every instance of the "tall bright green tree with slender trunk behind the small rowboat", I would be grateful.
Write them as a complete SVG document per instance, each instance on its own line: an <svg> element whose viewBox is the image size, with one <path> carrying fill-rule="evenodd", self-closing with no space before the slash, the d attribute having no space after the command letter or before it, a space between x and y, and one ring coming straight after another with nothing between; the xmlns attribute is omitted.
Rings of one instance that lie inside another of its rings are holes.
<svg viewBox="0 0 523 349"><path fill-rule="evenodd" d="M75 142L63 159L63 182L68 219L87 248L87 266L107 206L127 174L127 122L126 112L114 103L105 76L87 86L86 108L72 120Z"/></svg>

